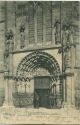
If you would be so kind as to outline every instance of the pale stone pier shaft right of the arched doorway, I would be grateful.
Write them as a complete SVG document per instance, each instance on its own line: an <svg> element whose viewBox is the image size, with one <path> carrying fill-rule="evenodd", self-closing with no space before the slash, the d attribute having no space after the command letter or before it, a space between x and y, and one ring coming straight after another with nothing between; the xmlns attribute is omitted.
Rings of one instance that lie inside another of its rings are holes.
<svg viewBox="0 0 80 125"><path fill-rule="evenodd" d="M71 66L66 70L66 89L67 89L67 105L69 107L75 106L75 51L74 47L70 50Z"/></svg>

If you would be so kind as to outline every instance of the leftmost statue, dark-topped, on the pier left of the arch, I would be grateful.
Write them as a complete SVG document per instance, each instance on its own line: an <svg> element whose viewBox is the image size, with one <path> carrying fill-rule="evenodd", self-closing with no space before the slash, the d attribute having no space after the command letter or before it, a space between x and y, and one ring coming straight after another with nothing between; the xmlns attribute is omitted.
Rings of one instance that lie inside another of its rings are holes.
<svg viewBox="0 0 80 125"><path fill-rule="evenodd" d="M14 41L13 41L13 38L14 38L14 35L13 35L13 31L10 29L10 30L7 30L6 32L6 51L8 52L9 50L13 50L14 48Z"/></svg>

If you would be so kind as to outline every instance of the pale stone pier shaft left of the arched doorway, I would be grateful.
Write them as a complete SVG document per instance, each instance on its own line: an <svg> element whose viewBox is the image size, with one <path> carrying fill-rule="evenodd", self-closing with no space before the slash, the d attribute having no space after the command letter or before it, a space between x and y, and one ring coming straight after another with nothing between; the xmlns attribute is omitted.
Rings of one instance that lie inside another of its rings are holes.
<svg viewBox="0 0 80 125"><path fill-rule="evenodd" d="M13 92L13 84L14 81L12 79L13 76L13 55L9 54L9 72L5 72L5 102L3 106L13 106L13 97L12 97L12 92Z"/></svg>

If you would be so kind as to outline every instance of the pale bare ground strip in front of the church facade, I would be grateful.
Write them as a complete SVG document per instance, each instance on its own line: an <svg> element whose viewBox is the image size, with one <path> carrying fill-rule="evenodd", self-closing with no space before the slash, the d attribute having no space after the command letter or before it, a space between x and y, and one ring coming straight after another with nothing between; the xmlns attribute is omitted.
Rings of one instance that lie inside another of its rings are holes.
<svg viewBox="0 0 80 125"><path fill-rule="evenodd" d="M80 124L80 111L73 108L0 108L0 123L6 124Z"/></svg>

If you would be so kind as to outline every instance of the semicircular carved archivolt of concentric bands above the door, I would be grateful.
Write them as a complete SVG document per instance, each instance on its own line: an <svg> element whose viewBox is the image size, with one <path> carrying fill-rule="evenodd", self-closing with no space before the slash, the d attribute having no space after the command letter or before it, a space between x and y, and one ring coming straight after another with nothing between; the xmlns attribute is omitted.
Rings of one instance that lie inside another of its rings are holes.
<svg viewBox="0 0 80 125"><path fill-rule="evenodd" d="M49 75L54 81L57 81L61 71L58 62L53 56L46 52L35 51L22 59L17 67L16 76L21 81L23 79L27 81L36 74Z"/></svg>

